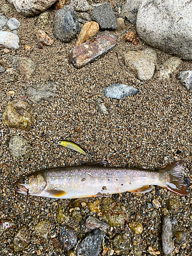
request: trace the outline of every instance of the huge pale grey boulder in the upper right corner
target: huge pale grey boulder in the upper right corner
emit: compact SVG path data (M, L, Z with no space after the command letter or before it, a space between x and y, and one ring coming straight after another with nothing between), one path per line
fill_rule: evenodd
M146 44L192 59L192 2L143 0L137 14L137 33Z

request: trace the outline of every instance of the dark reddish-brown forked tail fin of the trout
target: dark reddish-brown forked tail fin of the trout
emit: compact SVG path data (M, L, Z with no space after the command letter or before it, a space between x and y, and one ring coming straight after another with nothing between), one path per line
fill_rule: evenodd
M166 182L163 187L177 194L189 196L190 191L185 181L183 180L184 161L179 160L167 165L162 170L165 172Z

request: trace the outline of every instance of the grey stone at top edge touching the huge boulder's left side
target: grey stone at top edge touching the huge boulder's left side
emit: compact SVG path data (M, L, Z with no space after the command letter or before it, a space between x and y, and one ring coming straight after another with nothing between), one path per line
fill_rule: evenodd
M142 0L127 0L126 4L122 6L121 13L131 22L136 25L137 12Z

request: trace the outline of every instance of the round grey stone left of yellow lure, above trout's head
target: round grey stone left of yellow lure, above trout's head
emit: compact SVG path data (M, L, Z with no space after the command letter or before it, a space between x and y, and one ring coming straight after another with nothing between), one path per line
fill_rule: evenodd
M9 141L9 152L15 158L29 158L31 145L22 136L14 135Z

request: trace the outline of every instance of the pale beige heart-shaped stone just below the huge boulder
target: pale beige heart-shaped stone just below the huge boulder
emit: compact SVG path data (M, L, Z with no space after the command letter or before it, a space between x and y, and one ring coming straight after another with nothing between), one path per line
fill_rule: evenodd
M130 51L124 54L124 64L136 72L141 81L150 80L155 72L157 54L152 49L141 52Z

